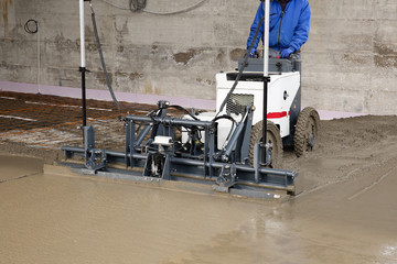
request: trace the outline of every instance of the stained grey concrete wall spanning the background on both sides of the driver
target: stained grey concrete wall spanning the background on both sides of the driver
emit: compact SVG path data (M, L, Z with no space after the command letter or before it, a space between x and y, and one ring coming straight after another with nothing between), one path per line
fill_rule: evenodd
M128 7L128 0L107 0ZM148 0L168 12L200 0ZM173 15L132 13L93 0L114 89L119 92L215 99L215 74L236 67L257 0L206 0ZM0 80L81 87L78 1L0 0ZM303 106L358 113L397 110L397 1L310 1L311 33L303 47ZM107 89L86 2L87 87ZM200 106L197 106L200 107Z

